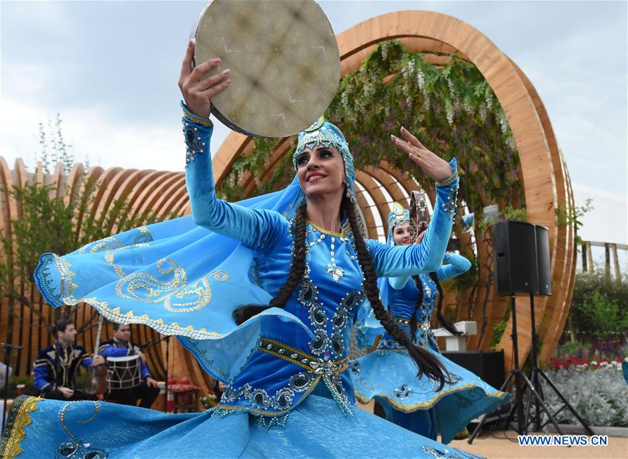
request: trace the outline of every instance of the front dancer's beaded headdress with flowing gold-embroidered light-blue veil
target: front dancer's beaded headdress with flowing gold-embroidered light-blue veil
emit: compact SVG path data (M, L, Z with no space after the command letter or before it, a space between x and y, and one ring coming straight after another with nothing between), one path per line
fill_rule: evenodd
M295 158L316 145L333 145L341 152L355 199L349 145L322 117L299 134ZM275 210L291 219L304 199L295 176L285 189L238 205ZM189 215L112 235L66 256L43 254L34 277L53 307L88 303L110 321L143 323L163 335L177 335L205 371L229 381L247 358L242 349L254 346L265 316L284 321L286 333L298 328L312 335L293 314L279 308L236 326L235 308L268 305L272 299L258 286L254 266L252 249L197 226Z

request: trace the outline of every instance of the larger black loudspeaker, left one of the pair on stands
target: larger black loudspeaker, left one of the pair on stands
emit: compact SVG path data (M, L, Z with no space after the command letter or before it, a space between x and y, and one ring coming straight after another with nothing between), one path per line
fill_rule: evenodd
M536 293L536 229L525 221L499 221L492 227L497 294Z

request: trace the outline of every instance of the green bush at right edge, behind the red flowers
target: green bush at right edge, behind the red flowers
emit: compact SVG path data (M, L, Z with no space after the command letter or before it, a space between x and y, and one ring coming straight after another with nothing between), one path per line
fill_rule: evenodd
M583 343L628 337L628 282L608 282L604 272L576 274L574 295L562 341L571 334Z

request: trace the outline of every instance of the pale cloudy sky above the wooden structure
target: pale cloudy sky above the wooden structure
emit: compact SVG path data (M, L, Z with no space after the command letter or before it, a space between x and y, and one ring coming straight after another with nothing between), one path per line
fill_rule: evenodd
M583 238L628 243L625 1L319 1L336 33L395 10L464 20L541 95L578 204ZM0 155L36 161L38 122L61 114L79 161L181 170L177 78L205 1L1 1ZM214 131L219 145L228 130ZM215 147L214 147L215 150Z

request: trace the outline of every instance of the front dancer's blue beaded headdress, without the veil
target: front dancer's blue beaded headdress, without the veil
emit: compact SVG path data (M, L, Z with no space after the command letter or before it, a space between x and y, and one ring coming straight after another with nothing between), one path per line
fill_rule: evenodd
M344 162L344 177L349 184L351 194L355 196L356 169L353 166L353 156L349 152L349 144L346 143L342 132L330 122L325 121L325 117L320 117L312 126L299 133L299 142L292 156L294 170L297 170L297 159L306 148L333 146L342 154Z

